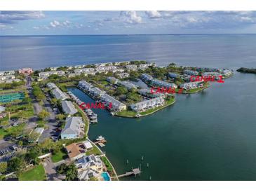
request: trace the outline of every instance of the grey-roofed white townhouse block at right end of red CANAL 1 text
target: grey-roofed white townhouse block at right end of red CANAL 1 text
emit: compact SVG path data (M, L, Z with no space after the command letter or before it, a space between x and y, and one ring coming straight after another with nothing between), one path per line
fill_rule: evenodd
M123 104L122 102L119 102L114 97L111 97L110 95L104 94L100 97L100 100L105 103L105 106L110 106L110 103L112 103L111 111L123 111L126 110L126 104Z

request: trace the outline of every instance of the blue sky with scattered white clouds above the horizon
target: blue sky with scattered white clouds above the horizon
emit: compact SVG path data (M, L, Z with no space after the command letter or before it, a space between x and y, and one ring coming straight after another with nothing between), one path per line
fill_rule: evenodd
M0 35L255 32L256 11L0 11Z

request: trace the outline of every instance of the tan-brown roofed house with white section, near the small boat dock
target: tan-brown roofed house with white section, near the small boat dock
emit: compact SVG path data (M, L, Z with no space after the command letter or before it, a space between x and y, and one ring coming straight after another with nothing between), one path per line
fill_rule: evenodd
M93 149L93 145L88 141L69 144L65 146L69 160L73 161L86 155L86 151Z

